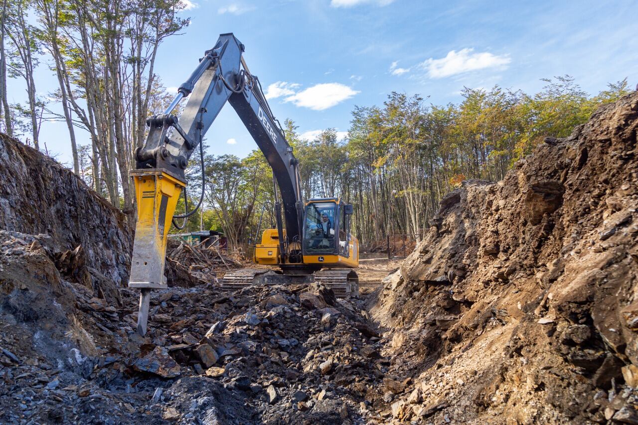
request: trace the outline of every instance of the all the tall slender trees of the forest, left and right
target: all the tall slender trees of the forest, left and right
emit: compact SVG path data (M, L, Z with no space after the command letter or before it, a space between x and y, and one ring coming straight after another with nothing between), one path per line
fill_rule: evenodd
M178 0L3 1L0 131L47 153L42 121L66 123L73 171L128 214L131 225L133 155L144 144L146 117L172 100L154 63L161 43L188 26L177 15L187 6ZM46 96L38 90L38 68L57 78L57 89ZM15 80L26 86L26 101L10 104L6 91ZM283 131L300 160L304 198L352 203L353 232L363 246L389 234L418 241L441 197L461 182L501 179L545 137L567 137L599 105L628 91L625 78L586 93L569 75L545 79L538 93L464 87L462 101L447 105L427 93L397 91L382 105L354 107L341 140L334 128L314 140L301 138L299 123L290 119ZM78 144L78 131L88 132L91 144ZM272 172L263 155L207 154L203 166L202 211L182 231L221 230L231 245L255 241L258 227L272 222ZM202 191L201 167L195 159L188 168L194 202ZM181 201L178 211L183 208Z

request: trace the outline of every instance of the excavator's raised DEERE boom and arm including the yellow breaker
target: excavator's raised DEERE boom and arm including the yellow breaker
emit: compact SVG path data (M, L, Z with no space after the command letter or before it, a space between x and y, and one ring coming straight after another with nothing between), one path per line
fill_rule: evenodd
M136 168L130 175L138 216L129 287L142 290L137 323L137 331L142 336L146 333L151 289L167 287L164 276L167 235L179 195L186 188L184 170L226 101L235 109L272 167L273 181L277 183L275 211L281 255L288 255L286 241L300 239L304 202L300 193L299 161L272 115L258 78L249 72L243 52L244 45L232 33L221 34L179 87L165 113L147 119L147 140L144 147L135 152ZM187 97L182 114L179 117L172 114ZM282 207L285 236L279 213Z

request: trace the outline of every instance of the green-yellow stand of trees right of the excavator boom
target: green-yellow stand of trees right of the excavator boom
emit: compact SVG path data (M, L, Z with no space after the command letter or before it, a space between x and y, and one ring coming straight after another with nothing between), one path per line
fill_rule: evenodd
M627 79L597 96L566 75L536 94L464 88L459 105L427 105L419 95L390 93L382 107L355 107L345 142L332 129L286 137L300 160L304 197L340 196L355 204L364 243L386 234L422 234L438 201L465 179L503 178L545 137L567 137L603 103L629 93Z

